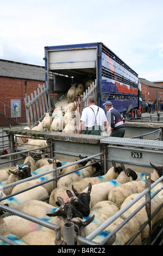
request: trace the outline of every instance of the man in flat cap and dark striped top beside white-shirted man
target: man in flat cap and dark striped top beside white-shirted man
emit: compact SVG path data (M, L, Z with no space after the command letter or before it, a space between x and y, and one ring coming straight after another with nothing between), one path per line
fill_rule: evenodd
M109 127L106 130L106 133L110 133L110 137L124 137L125 129L124 129L124 122L125 119L121 115L117 109L112 107L112 103L110 101L106 101L103 106L105 106L105 109L107 111L106 118L109 123Z

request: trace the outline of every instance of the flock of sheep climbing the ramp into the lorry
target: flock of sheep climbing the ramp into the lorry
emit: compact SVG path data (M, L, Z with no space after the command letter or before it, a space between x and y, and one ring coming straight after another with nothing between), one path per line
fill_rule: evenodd
M79 125L80 114L78 111L77 103L74 101L74 96L83 95L84 88L88 88L92 84L93 80L88 80L83 86L82 83L71 84L70 89L67 92L67 105L65 107L55 108L52 117L49 113L45 114L45 117L39 122L39 125L34 126L31 130L36 131L61 131L74 133ZM74 118L76 117L76 119ZM29 127L24 127L29 129ZM27 139L25 136L17 137L17 146L20 147L21 143L28 142L28 149L36 148L36 146L46 146L46 141ZM39 150L36 150L39 152Z

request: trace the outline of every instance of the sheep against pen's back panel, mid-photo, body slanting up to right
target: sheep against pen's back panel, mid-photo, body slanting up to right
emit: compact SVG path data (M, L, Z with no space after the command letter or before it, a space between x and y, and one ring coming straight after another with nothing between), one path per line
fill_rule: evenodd
M101 165L99 163L95 163L96 161L90 160L89 162L87 162L86 166L84 169L79 170L77 172L68 174L67 176L61 177L58 181L57 186L58 187L62 187L62 186L68 186L70 185L72 182L74 181L78 181L80 179L84 179L86 177L90 177L93 175L93 173L95 173L97 170L101 170ZM92 166L88 166L91 163L95 163L92 164Z

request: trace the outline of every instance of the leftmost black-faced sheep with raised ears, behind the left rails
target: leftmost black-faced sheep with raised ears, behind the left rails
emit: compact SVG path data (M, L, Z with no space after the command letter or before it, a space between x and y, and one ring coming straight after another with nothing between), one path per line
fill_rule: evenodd
M9 172L11 174L10 174L8 180L1 181L0 182L1 186L9 185L18 180L26 179L26 178L32 176L30 173L30 163L29 162L28 162L28 167L27 166L19 167L19 168L16 168L15 170L9 170ZM14 186L5 188L3 190L3 192L8 196L9 194L11 194L13 188L14 188Z

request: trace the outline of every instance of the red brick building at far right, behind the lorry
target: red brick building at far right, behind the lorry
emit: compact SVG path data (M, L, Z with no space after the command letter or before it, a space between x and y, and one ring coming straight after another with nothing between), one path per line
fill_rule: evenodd
M143 78L139 78L139 81L141 83L142 99L152 102L163 100L163 87L161 85Z

